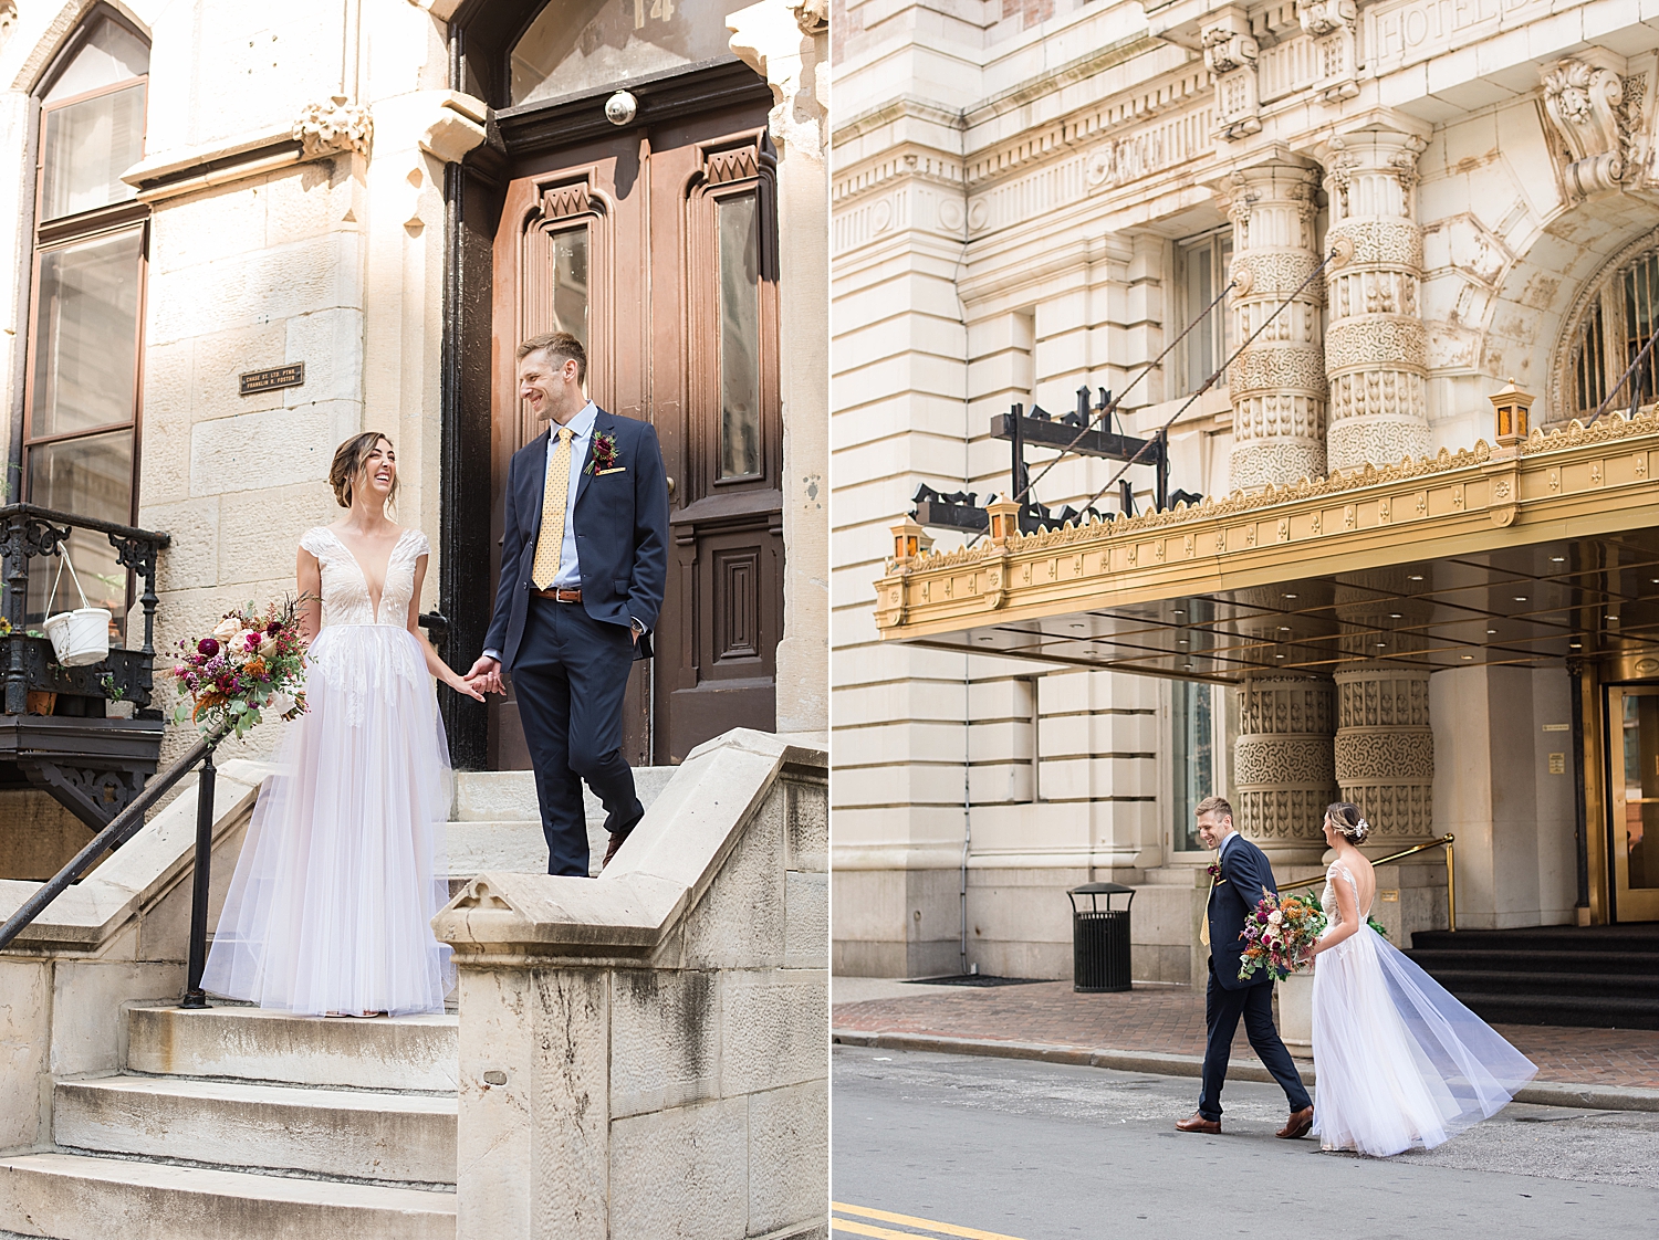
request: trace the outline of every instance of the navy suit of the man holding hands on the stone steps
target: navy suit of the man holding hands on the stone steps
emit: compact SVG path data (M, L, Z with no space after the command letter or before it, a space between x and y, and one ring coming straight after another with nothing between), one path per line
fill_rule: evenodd
M650 630L669 574L669 487L650 423L597 411L587 459L572 461L572 529L581 603L533 593L549 433L513 454L501 535L501 584L484 650L513 676L524 741L536 769L547 872L586 875L582 781L606 807L606 827L625 836L644 816L622 758L622 695L635 658L650 656ZM615 463L592 467L592 444L615 443ZM577 472L579 471L579 472ZM634 642L634 622L644 628Z

